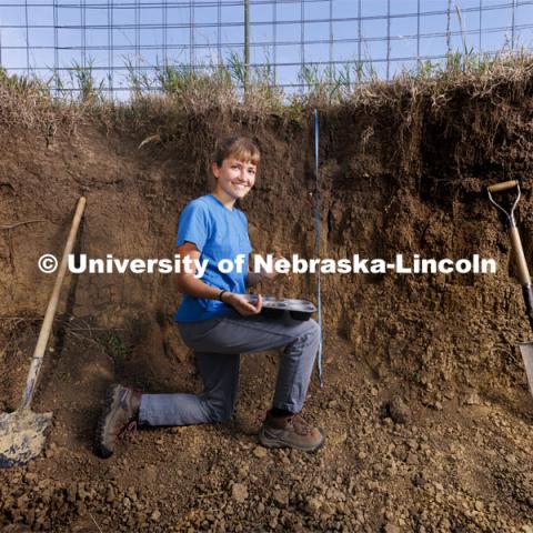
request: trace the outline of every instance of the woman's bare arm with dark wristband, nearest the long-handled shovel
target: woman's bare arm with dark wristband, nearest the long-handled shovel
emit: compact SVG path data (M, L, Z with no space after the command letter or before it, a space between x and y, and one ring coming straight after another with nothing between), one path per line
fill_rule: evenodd
M192 242L184 242L181 247L175 249L175 253L181 259L189 257L192 261L200 260L200 251ZM181 272L178 274L178 289L184 294L189 294L193 298L201 298L208 300L219 300L222 292L217 286L211 286L204 283L199 278L194 276L194 268L191 268L190 272L185 271L184 263L182 263ZM225 291L222 294L222 302L231 305L238 313L242 315L258 314L261 311L263 301L261 296L258 299L255 305L247 302L230 291Z

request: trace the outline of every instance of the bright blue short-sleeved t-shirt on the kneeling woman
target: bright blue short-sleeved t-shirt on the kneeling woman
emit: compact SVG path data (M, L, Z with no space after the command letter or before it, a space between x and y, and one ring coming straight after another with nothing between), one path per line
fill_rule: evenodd
M248 237L247 215L237 208L225 208L212 194L200 197L183 209L178 224L177 245L192 242L200 250L200 262L208 260L205 273L201 280L208 285L237 293L245 292L248 257L252 251ZM241 272L234 266L229 273L222 273L218 265L222 259L234 261L244 254ZM175 322L195 322L214 316L229 316L234 311L218 300L183 296L174 314Z

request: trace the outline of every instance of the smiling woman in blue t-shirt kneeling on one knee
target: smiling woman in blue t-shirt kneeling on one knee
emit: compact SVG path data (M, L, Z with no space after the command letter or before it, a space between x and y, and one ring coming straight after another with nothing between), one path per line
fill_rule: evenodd
M259 315L255 304L241 296L248 286L274 273L248 272L252 251L245 214L235 208L255 183L260 153L248 138L223 139L214 155L217 180L211 194L190 202L178 228L177 253L207 262L201 279L193 272L178 274L184 293L174 320L184 343L194 352L204 392L195 394L142 394L123 385L108 390L100 416L95 452L112 455L118 436L132 423L140 425L190 425L223 422L231 418L237 400L240 354L284 346L272 409L262 423L259 442L266 447L314 451L324 442L322 429L300 415L303 408L320 331L315 321ZM243 269L223 273L219 261L244 254Z

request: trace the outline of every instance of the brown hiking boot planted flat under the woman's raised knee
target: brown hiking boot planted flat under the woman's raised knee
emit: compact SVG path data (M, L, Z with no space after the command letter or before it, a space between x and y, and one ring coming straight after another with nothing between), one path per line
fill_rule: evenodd
M259 442L265 447L295 447L314 452L324 440L324 430L312 426L300 414L272 416L269 411L259 431Z

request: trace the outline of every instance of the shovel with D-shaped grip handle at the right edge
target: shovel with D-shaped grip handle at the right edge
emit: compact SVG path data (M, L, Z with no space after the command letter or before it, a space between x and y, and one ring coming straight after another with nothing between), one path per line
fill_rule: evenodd
M511 211L506 211L502 205L496 203L492 198L493 192L509 191L510 189L516 189L516 198L511 208ZM487 187L489 199L491 202L500 209L507 218L509 223L509 238L511 240L511 249L514 252L514 260L516 262L516 271L520 284L522 285L522 294L525 302L525 313L530 321L530 326L533 330L533 290L531 286L530 272L527 270L527 263L525 262L524 250L522 249L522 241L520 240L519 229L516 228L516 220L514 219L514 209L520 200L520 184L516 180L504 181L496 183L495 185ZM527 375L527 383L530 385L530 392L533 394L533 341L519 343L520 353L524 361L525 373Z

